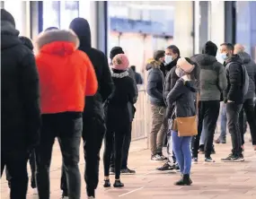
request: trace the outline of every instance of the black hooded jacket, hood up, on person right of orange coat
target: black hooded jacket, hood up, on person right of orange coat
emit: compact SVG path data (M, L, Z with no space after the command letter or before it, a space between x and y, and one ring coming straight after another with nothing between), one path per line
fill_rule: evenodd
M97 76L99 89L93 97L86 97L84 116L103 117L103 102L109 98L114 89L107 56L102 51L92 48L89 23L83 18L75 18L69 28L75 31L80 40L79 49L89 56Z

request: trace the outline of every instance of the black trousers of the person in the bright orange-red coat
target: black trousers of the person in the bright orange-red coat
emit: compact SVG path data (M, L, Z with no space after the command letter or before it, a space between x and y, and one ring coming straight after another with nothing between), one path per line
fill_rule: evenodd
M81 176L78 168L83 119L82 113L42 115L40 145L36 148L37 186L40 199L49 199L49 168L52 147L57 137L66 174L68 197L80 199Z

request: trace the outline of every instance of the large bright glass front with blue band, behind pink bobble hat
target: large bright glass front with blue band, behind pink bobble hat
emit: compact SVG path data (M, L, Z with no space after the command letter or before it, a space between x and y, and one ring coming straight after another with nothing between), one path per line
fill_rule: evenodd
M131 65L144 73L146 60L155 50L172 44L175 2L108 2L108 54L123 48Z

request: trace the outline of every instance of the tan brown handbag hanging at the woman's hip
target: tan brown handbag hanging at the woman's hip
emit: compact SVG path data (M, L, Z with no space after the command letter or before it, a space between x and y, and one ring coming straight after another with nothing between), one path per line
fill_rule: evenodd
M194 136L198 134L197 116L176 117L175 121L179 137Z

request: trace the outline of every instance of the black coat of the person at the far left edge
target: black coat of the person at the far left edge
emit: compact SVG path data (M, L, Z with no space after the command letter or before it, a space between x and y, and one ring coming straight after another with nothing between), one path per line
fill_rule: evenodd
M1 149L30 149L39 142L39 75L19 31L1 20Z

